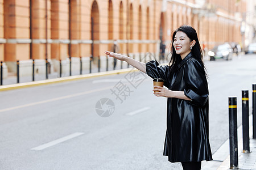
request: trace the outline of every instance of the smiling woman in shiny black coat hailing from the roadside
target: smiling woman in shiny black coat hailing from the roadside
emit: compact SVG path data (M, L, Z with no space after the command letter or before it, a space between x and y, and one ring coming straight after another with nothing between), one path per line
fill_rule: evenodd
M208 130L208 83L196 30L183 25L172 35L169 66L155 60L142 63L121 54L105 52L126 61L151 78L163 78L154 95L168 97L164 155L181 162L183 169L200 169L202 160L212 160ZM159 92L156 92L159 91Z

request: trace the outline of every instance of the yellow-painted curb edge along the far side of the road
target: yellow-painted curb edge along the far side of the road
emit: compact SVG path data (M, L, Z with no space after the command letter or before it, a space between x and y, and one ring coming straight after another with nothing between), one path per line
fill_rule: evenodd
M123 74L123 73L129 73L132 70L138 71L138 69L135 69L133 67L133 68L122 69L122 70L112 70L112 71L104 71L100 73L90 73L90 74L84 74L84 75L67 76L67 77L56 78L56 79L39 80L36 82L10 84L10 85L0 86L0 91L15 90L18 88L27 88L27 87L34 87L34 86L42 86L42 85L53 84L53 83L63 83L63 82L69 82L73 80L95 78L95 77L104 76L104 75Z

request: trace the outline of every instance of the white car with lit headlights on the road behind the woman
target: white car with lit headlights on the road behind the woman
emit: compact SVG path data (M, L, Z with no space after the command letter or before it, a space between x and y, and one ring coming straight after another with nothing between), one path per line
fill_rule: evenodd
M209 50L208 55L210 56L210 60L215 60L216 58L229 60L232 59L233 49L229 44L217 45Z

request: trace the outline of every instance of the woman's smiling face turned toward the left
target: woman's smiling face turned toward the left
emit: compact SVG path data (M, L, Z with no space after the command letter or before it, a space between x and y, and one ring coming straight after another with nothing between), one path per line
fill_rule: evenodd
M174 45L176 54L180 54L180 57L183 59L191 52L190 47L195 44L195 40L191 41L189 37L181 31L176 32L174 37Z

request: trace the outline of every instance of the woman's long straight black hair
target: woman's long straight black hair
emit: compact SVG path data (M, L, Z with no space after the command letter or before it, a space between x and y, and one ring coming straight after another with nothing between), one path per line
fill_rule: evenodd
M177 28L174 31L174 33L172 33L171 59L170 59L170 63L169 63L169 65L171 66L170 72L173 73L177 69L177 65L179 64L179 62L182 60L180 57L180 54L176 54L174 44L173 44L175 35L178 31L184 32L188 36L190 41L193 41L193 40L196 41L195 45L193 45L193 47L192 47L191 53L192 53L192 56L194 58L196 58L197 61L199 61L201 63L201 65L204 67L204 70L205 70L205 66L204 66L204 62L203 62L203 52L202 52L202 49L201 49L201 46L199 43L199 39L197 37L196 29L194 29L193 27L191 27L189 25L182 25L181 27Z

